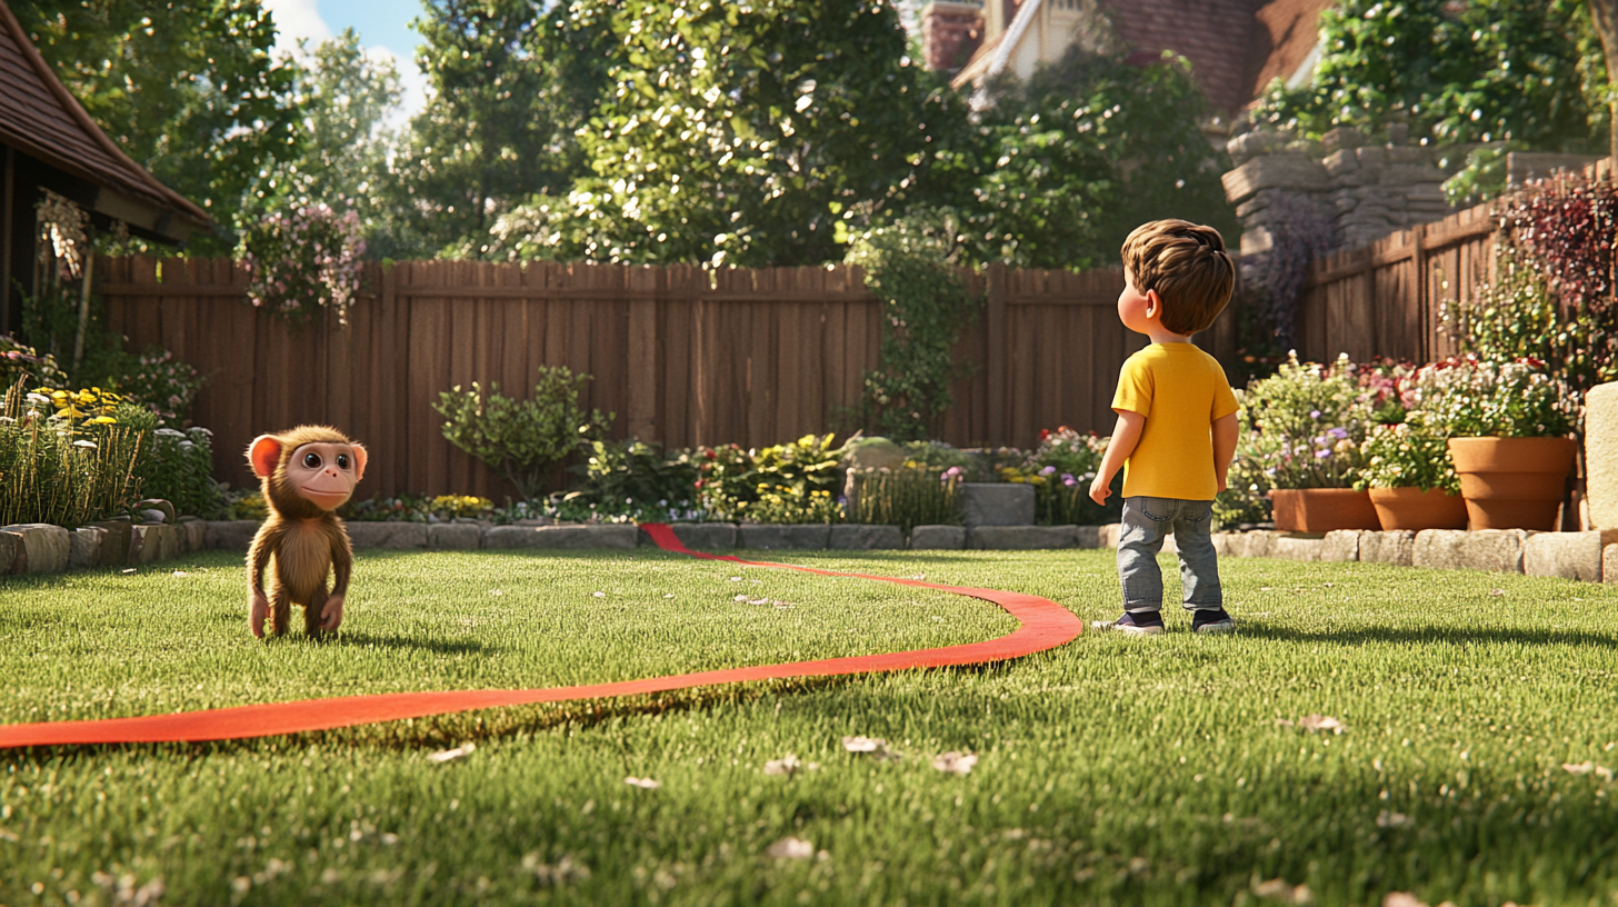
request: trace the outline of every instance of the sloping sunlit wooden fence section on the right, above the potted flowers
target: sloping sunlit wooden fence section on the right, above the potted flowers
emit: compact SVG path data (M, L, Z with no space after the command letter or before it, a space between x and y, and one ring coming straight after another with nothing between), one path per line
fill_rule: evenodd
M1612 178L1612 159L1584 170ZM1298 355L1327 361L1391 356L1417 363L1459 351L1443 311L1492 277L1493 204L1317 259L1298 304Z

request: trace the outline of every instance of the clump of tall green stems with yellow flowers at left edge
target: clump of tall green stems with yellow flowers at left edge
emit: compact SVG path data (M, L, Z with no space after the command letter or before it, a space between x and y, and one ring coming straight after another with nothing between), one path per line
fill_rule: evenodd
M115 411L112 394L70 397L13 382L0 403L0 525L71 528L128 509L142 437L118 424Z

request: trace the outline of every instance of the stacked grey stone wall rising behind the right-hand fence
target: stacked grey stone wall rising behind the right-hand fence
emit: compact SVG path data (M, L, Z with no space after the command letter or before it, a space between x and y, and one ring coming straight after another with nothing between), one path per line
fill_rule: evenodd
M1443 201L1443 181L1459 170L1464 154L1406 144L1401 130L1370 143L1359 130L1336 128L1322 141L1252 131L1230 139L1235 170L1225 173L1225 196L1241 219L1241 253L1270 249L1270 204L1281 194L1319 202L1333 222L1335 248L1356 248L1416 224L1442 220L1456 209ZM1440 162L1448 157L1448 168Z

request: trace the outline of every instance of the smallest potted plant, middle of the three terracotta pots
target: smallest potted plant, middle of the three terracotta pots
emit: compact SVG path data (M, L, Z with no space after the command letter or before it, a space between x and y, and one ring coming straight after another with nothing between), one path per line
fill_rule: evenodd
M1413 410L1403 423L1374 426L1361 454L1366 465L1354 486L1370 492L1383 530L1466 528L1461 479L1430 413Z

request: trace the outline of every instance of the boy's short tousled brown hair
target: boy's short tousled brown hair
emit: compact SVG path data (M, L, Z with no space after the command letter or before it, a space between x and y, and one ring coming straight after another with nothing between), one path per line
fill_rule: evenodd
M1163 329L1175 334L1207 330L1236 288L1236 264L1225 251L1225 238L1189 220L1136 227L1123 241L1123 264L1136 290L1157 290Z

